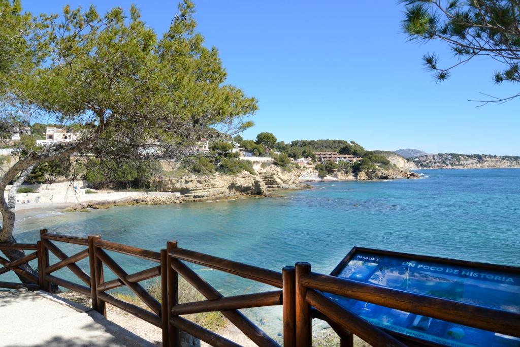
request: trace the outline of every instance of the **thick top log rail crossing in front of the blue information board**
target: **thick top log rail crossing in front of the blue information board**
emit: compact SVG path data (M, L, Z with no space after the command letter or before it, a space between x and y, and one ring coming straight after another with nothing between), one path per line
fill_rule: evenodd
M316 273L302 276L301 282L307 288L520 337L520 314Z

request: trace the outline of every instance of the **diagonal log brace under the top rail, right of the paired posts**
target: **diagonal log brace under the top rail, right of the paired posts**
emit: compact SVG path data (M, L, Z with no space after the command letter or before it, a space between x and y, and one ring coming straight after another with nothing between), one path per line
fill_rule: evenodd
M334 323L343 327L347 331L352 331L362 340L368 342L373 347L406 347L404 343L396 340L375 325L357 315L348 312L334 301L326 298L323 294L313 289L308 289L306 298L309 304L316 307L318 311L333 320Z

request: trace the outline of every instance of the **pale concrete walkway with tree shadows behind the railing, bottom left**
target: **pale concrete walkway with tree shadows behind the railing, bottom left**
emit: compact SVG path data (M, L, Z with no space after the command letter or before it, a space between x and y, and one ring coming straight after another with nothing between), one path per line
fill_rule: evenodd
M83 347L154 344L86 306L43 291L0 291L0 346Z

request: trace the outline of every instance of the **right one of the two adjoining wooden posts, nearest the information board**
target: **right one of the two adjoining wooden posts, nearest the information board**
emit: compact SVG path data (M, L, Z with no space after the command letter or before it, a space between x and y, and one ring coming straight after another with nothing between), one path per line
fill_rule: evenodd
M296 345L311 347L312 331L310 308L307 303L307 288L302 285L301 277L310 272L310 264L299 262L295 265L295 306L296 306Z

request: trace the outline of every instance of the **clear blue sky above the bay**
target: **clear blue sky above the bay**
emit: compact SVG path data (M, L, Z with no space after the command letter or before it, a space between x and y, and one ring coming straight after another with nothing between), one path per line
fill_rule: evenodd
M104 12L134 3L162 33L175 0L22 0L32 12L64 5ZM451 54L439 44L407 42L396 1L195 0L199 31L216 46L228 82L259 100L256 125L279 140L338 138L368 149L520 155L520 99L477 107L480 92L503 97L519 86L492 83L496 63L477 60L435 84L421 57ZM442 54L444 53L444 54Z

